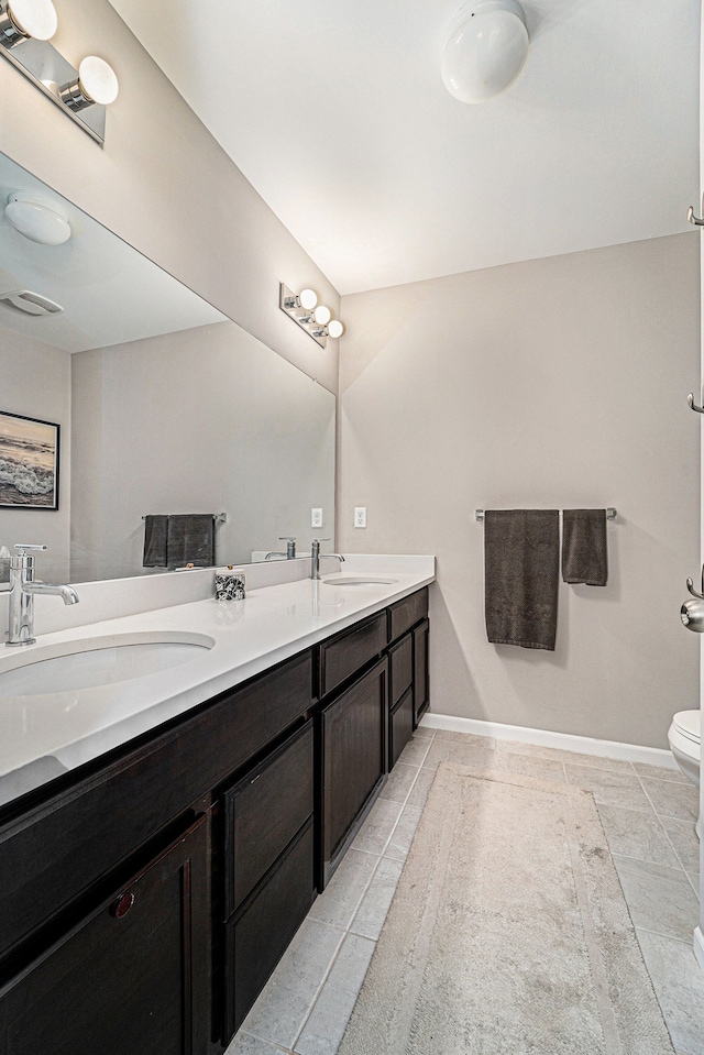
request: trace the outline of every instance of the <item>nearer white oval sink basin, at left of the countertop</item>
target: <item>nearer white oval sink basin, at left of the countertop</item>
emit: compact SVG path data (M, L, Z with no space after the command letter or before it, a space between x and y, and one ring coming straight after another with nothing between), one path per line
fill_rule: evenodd
M205 634L174 630L29 645L19 655L0 657L0 697L42 696L131 681L187 663L213 645Z

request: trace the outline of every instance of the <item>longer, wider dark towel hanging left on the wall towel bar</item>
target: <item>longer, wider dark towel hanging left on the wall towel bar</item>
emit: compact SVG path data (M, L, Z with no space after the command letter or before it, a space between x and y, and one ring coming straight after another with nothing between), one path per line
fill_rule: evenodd
M554 650L560 579L557 509L484 514L484 612L494 645Z

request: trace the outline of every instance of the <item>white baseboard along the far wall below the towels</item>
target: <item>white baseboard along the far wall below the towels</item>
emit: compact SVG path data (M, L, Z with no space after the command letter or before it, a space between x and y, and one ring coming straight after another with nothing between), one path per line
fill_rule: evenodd
M647 762L663 769L676 769L672 754L658 747L638 744L620 744L618 740L598 740L591 736L573 736L553 733L550 729L531 729L522 725L502 725L499 722L483 722L480 718L459 718L451 714L426 713L420 722L429 729L447 729L452 733L472 733L474 736L492 736L497 740L518 740L538 747L557 747L561 751L578 751L582 755L600 755L602 758L620 758L628 762Z

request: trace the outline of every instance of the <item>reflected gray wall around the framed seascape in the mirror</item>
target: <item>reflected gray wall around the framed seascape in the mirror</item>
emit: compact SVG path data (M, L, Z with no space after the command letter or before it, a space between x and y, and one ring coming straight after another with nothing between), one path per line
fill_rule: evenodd
M44 542L36 576L68 579L70 521L70 355L41 341L2 330L0 334L0 410L61 426L58 512L0 509L0 546ZM0 637L0 640L2 638Z

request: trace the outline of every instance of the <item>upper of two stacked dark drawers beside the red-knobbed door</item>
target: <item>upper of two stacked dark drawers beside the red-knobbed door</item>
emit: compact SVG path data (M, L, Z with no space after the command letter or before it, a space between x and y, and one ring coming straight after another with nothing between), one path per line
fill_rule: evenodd
M226 919L310 817L312 719L224 794Z

